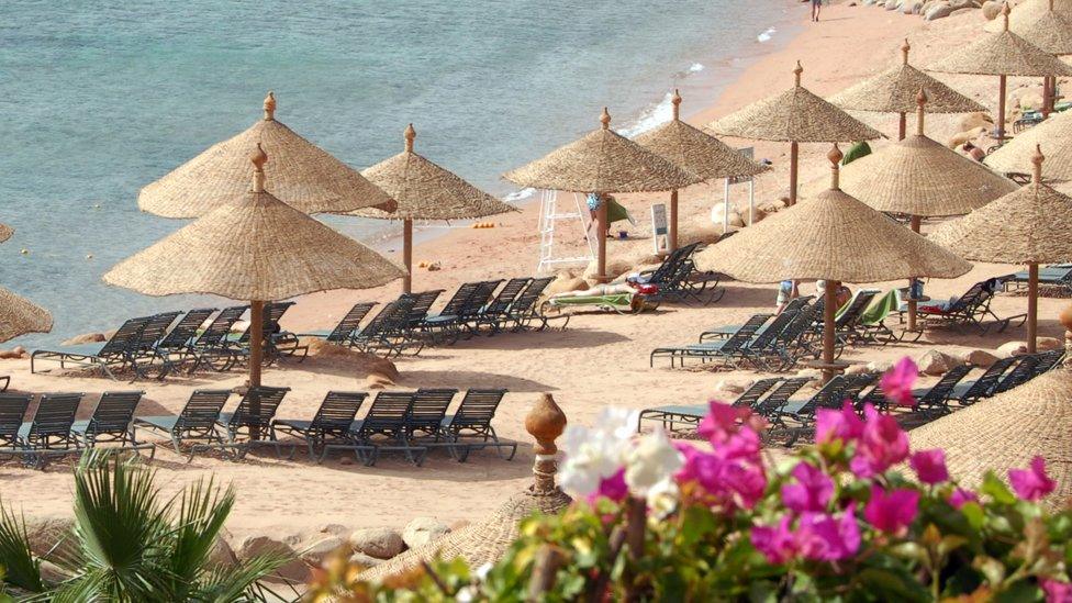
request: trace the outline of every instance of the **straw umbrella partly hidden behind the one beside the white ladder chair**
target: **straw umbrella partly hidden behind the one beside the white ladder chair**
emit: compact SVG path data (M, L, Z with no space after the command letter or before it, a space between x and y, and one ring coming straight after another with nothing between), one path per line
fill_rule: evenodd
M756 176L769 169L741 152L681 121L681 94L673 91L673 119L638 135L640 145L704 180ZM751 217L749 217L751 222ZM670 250L678 248L678 189L670 191Z

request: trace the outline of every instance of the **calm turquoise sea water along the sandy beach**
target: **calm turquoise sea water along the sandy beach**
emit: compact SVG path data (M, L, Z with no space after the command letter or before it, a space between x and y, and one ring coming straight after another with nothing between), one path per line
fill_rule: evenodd
M674 85L710 102L794 5L4 0L0 222L16 234L0 283L56 316L53 334L18 343L192 303L100 277L182 225L139 213L137 190L245 130L269 89L278 119L350 165L397 153L412 121L421 153L506 194L500 174L592 129L603 104L635 129L665 119ZM383 227L328 221L365 239Z

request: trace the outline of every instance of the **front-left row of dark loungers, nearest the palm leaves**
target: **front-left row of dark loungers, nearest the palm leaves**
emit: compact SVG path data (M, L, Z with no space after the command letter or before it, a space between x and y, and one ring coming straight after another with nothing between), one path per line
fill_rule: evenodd
M231 390L194 390L175 416L137 416L144 392L105 392L87 421L76 421L81 393L43 394L36 411L25 417L32 394L0 394L0 455L19 456L43 467L49 458L79 454L109 443L113 450L156 451L153 443L138 442L136 431L156 432L170 439L176 453L219 449L241 458L255 446L275 448L291 457L297 446L280 440L290 435L304 445L311 459L321 462L332 450L348 450L365 465L376 464L381 453L399 451L421 465L436 448L465 461L471 451L494 449L512 459L514 442L501 440L491 422L506 390L468 390L454 414L447 414L458 390L421 389L413 392L331 391L311 420L277 418L289 388L250 388L234 411L224 411ZM360 420L360 410L368 411Z

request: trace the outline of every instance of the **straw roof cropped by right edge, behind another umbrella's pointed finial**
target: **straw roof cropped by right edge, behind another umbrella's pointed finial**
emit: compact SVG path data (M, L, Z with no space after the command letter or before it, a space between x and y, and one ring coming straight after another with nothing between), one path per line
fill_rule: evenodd
M1042 178L1072 180L1072 112L1068 111L1020 132L984 160L996 171L1030 174L1037 145L1042 145L1049 157L1042 165Z

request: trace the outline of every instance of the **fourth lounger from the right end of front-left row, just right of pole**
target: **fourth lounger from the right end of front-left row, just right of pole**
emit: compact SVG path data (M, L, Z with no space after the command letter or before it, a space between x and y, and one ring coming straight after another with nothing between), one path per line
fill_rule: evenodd
M333 449L351 449L357 454L358 460L364 461L361 454L372 454L373 449L357 444L350 434L350 427L366 399L368 393L362 391L330 391L312 421L277 418L272 426L277 433L282 432L303 439L309 448L309 458L316 459L317 462L323 462L328 446Z

